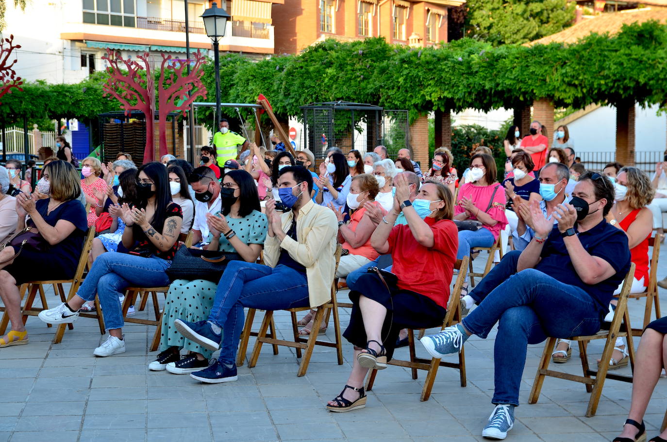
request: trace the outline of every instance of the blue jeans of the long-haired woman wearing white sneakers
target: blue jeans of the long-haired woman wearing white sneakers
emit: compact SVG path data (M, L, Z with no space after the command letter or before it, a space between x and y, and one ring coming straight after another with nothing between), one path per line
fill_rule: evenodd
M93 262L77 295L91 301L97 294L107 330L122 328L123 311L119 297L125 294L125 288L167 286L169 276L165 270L169 266L171 261L157 256L142 258L118 252L103 253Z

